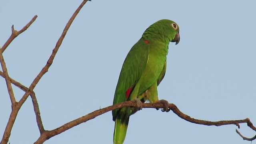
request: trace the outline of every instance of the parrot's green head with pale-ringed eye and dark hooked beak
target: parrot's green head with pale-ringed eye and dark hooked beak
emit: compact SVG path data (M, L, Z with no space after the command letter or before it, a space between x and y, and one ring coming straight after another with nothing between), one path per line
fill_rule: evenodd
M158 20L152 24L142 37L151 36L154 39L164 40L164 42L180 42L179 26L172 20Z

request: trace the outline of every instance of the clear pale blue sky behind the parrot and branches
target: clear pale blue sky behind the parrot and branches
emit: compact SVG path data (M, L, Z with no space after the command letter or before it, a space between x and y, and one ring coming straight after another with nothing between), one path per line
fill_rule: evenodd
M12 78L29 86L82 0L0 1L0 46L38 15L4 52ZM180 43L169 46L159 99L203 120L250 118L256 125L256 1L254 0L92 0L82 8L49 71L34 91L44 127L52 130L112 105L122 63L152 23L170 19L180 26ZM24 94L14 87L16 99ZM0 78L0 138L11 111ZM173 112L143 109L130 117L124 144L250 144L236 126L203 126ZM112 144L108 112L47 140L45 144ZM241 124L240 132L256 132ZM39 137L31 99L22 106L11 144Z

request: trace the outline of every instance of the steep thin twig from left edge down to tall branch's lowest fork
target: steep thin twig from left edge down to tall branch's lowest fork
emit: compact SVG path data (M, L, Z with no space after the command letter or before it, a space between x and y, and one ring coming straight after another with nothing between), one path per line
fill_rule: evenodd
M7 68L6 68L6 64L4 62L4 56L3 56L1 50L0 50L0 63L1 63L2 70L3 70L3 73L4 73L4 78L5 78L5 81L6 81L6 85L7 85L8 93L9 93L9 96L10 96L10 99L11 99L11 102L12 102L12 109L13 109L15 107L16 100L15 100L14 93L13 93L13 90L12 90L12 84L11 84L10 77L9 77L9 74L8 74L8 71L7 71Z

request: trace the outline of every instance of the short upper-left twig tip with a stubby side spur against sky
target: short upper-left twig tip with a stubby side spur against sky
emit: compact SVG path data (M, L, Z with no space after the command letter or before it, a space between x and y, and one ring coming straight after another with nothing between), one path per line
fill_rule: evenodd
M14 40L14 38L16 38L19 34L24 32L25 30L27 30L28 27L36 20L36 18L37 18L37 16L34 16L32 18L32 20L30 20L30 22L28 22L28 24L26 24L26 26L24 26L20 31L14 30L14 25L12 25L12 34L8 38L6 43L3 45L3 47L1 48L1 51L4 52L4 50L9 46L9 44L12 42L12 40Z

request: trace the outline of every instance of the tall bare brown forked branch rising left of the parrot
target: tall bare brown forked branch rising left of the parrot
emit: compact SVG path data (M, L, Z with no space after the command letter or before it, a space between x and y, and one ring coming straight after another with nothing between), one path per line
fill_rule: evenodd
M3 75L4 75L3 77L6 79L8 92L9 92L10 99L11 99L11 102L12 102L12 112L10 114L10 118L9 118L8 123L6 125L6 129L4 131L4 135L3 135L3 138L0 142L0 144L6 144L8 142L8 139L9 139L10 134L11 134L12 126L13 126L15 120L16 120L16 116L18 114L18 111L20 110L21 106L24 104L24 102L26 101L26 99L28 98L29 95L31 96L32 101L33 101L34 110L35 110L35 113L36 113L36 116L37 116L37 123L38 123L40 133L41 134L44 133L44 128L43 128L43 125L42 125L42 121L40 119L40 112L39 112L38 104L36 102L36 97L34 95L33 89L35 88L35 86L39 82L39 80L42 78L42 76L50 68L50 66L51 66L51 64L54 60L54 57L55 57L56 53L58 52L58 49L60 48L60 45L62 44L62 41L64 40L64 38L66 36L66 33L67 33L68 29L70 28L70 26L71 26L72 22L74 21L74 19L76 18L77 14L82 9L84 4L86 4L87 1L88 0L84 0L80 4L80 6L77 8L77 10L74 12L72 17L70 18L70 20L66 24L58 42L56 43L55 48L52 50L52 54L51 54L50 58L48 59L48 61L46 62L46 65L44 66L44 68L42 68L40 73L36 76L36 78L34 79L32 84L30 84L29 88L26 88L26 92L22 96L22 98L19 102L16 102L14 94L12 92L11 79L8 76L8 72L7 72L5 63L4 63L4 58L2 56L2 52L4 52L4 50L9 46L9 44L12 42L12 40L14 40L14 38L16 38L20 33L24 32L34 22L34 20L36 20L37 16L34 16L34 18L32 18L32 20L24 28L22 28L22 30L20 30L20 31L14 30L14 26L12 26L12 34L11 34L10 38L7 40L7 42L4 44L4 46L0 49L0 60L1 60L1 65L2 65L2 68L3 68Z

